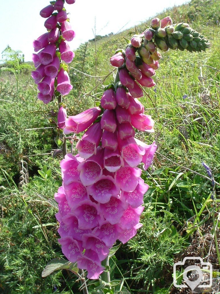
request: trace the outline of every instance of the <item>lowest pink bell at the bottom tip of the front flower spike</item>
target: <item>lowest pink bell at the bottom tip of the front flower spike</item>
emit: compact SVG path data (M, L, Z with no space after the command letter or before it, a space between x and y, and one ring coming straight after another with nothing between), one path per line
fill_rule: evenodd
M88 279L98 279L99 275L101 273L103 273L103 271L105 269L101 265L100 261L94 261L94 260L92 260L92 259L90 259L90 258L88 258L86 256L79 256L78 257L77 266L78 266L78 268L81 268L81 269L84 269L84 270L88 271L88 274L87 274Z

